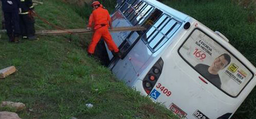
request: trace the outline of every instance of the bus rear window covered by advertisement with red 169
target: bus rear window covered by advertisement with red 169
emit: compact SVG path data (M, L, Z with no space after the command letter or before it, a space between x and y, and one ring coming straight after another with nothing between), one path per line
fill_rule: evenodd
M236 97L253 76L242 62L199 29L191 33L179 48L179 54L201 76L232 97Z

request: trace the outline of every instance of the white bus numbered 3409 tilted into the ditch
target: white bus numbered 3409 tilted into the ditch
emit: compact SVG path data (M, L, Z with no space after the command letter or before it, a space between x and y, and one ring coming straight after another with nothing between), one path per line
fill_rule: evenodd
M255 67L220 32L155 0L119 0L112 33L124 54L109 69L180 118L231 118L256 84Z

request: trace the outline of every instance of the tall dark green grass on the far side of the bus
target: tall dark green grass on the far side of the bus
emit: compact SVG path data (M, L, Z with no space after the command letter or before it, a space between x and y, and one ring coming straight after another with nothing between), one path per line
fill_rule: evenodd
M256 66L256 4L253 1L163 1L225 35L230 43ZM246 6L242 6L246 5ZM256 118L256 89L236 111L239 118Z

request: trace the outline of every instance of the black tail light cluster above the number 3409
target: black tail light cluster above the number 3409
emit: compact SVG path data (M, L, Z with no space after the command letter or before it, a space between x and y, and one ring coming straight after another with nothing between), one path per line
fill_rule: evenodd
M143 88L147 94L149 94L153 90L158 78L161 75L162 69L163 69L163 60L162 58L160 58L154 64L154 66L148 71L147 75L144 77Z

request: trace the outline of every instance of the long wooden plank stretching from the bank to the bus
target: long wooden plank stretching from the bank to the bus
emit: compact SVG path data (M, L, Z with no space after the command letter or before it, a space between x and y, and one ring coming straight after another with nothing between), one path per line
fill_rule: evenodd
M120 31L138 31L138 30L146 30L145 27L142 26L134 26L134 27L116 27L113 29L109 29L110 32L120 32ZM37 30L36 35L65 35L65 34L73 34L73 33L93 33L93 30L87 29L64 29L64 30Z

